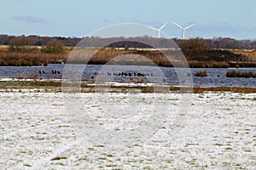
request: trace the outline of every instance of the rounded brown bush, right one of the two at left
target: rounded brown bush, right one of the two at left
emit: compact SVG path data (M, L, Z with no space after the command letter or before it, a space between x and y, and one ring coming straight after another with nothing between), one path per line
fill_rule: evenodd
M58 40L51 40L49 41L46 46L42 49L44 53L49 54L63 54L65 53L65 49L63 48L63 45Z

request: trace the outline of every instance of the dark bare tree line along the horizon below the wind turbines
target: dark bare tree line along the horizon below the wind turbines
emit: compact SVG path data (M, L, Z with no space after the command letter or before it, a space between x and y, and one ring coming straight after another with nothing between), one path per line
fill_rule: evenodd
M9 35L0 35L0 45L12 45L14 42L24 41L25 44L32 46L46 46L49 42L60 42L63 46L74 47L81 40L84 39L84 46L93 47L93 46L102 46L106 39L109 40L118 40L119 38L110 37L110 38L101 38L101 37L40 37L36 35L32 36L9 36ZM201 42L204 42L208 48L230 48L230 49L254 49L256 48L256 39L253 40L236 40L230 37L213 37L212 39L203 39L200 37L193 39L201 39ZM154 47L159 45L170 45L173 46L173 42L176 42L177 45L180 45L182 42L189 40L181 40L177 38L165 39L165 38L154 38L154 37L133 37L132 40L135 42L148 42Z

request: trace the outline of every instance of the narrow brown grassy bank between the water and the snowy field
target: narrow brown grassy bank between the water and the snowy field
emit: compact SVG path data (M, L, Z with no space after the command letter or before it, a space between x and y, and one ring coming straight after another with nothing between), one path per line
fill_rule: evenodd
M22 92L24 89L38 89L38 92L61 92L61 82L54 81L3 81L0 82L0 89L2 92L18 91ZM40 90L39 90L40 89ZM81 88L77 92L82 93L95 93L100 92L110 93L130 93L131 91L137 91L141 93L180 93L182 90L184 93L202 94L205 92L231 92L231 93L256 93L256 88L237 88L237 87L199 87L194 88L180 88L175 86L166 87L116 87L111 86L106 88L96 88L91 82L83 82ZM107 89L107 91L106 91ZM166 89L169 89L166 91ZM191 91L192 90L192 91ZM73 91L71 91L73 92Z

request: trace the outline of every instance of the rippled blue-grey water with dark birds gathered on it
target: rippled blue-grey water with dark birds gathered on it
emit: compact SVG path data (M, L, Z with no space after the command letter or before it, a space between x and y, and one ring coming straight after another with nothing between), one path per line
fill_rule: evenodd
M48 65L48 66L1 66L0 78L38 78L38 79L61 79L64 68L67 65ZM76 68L77 69L77 68ZM145 82L163 81L172 85L182 84L183 78L178 79L175 68L156 67L156 66L136 66L136 65L86 65L82 67L83 80L96 79L102 75L105 80L113 82L125 82L129 79L143 79ZM81 69L78 69L80 71ZM236 71L254 71L256 68L191 68L193 85L205 87L256 87L256 78L230 78L225 77L226 72ZM76 70L74 70L76 71ZM207 77L195 77L196 71L207 71ZM64 71L65 72L65 71ZM126 77L121 76L127 73ZM184 71L185 72L185 71ZM67 70L66 70L67 73ZM130 73L130 75L129 75ZM141 73L144 77L138 77ZM162 75L161 75L162 74ZM120 75L120 76L119 76ZM187 75L188 77L189 75ZM70 76L68 76L70 77ZM72 77L72 76L71 76ZM186 77L185 77L186 79Z

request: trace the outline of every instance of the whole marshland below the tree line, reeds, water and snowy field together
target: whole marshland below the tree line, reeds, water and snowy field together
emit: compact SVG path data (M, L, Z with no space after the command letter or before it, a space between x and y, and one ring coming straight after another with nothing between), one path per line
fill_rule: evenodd
M27 37L16 38L17 42L21 39L25 43ZM170 62L159 52L145 48L108 47L82 67L76 84L65 82L63 77L68 76L65 69L68 62L78 66L84 58L68 60L69 54L80 50L90 53L95 49L68 47L63 40L55 38L40 42L39 46L39 42L28 41L22 46L12 42L1 47L1 167L256 167L253 50L209 48L201 39L181 42L183 48L177 50L183 50L188 59L191 68L185 76L193 82L186 87L172 65L183 69L182 62ZM203 48L198 49L199 53L185 48L189 44ZM118 55L137 58L122 59L120 63L113 57ZM113 62L109 64L111 59ZM161 118L150 122L157 114ZM103 129L96 132L99 136L94 135L94 129L87 127L84 120L90 120L89 125L96 129ZM150 123L154 123L152 128L156 130L150 131L148 126L147 138L141 136L142 125ZM111 143L113 139L109 136L102 139L106 131L119 134L109 136L119 139L114 140L116 144L123 141L123 145Z

